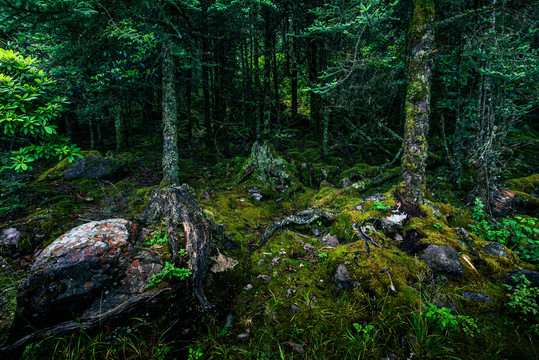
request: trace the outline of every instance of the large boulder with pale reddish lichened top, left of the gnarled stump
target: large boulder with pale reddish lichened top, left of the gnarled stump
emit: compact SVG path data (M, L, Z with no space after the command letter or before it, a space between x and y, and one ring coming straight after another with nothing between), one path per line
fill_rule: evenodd
M95 317L144 292L162 268L140 249L139 229L124 219L93 221L60 236L20 285L11 337L73 319Z

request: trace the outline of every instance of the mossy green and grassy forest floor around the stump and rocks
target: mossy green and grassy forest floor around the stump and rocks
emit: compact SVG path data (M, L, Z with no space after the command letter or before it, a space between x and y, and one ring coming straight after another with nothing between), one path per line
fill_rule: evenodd
M156 145L140 139L136 150L112 155L129 171L108 180L65 180L60 172L69 166L66 162L3 180L0 229L15 227L21 237L15 252L0 257L2 333L16 308L17 285L40 250L90 220L138 219L161 180ZM512 293L500 283L511 271L537 271L539 175L534 175L532 150L516 157L516 170L508 174L517 179L505 186L525 200L520 213L505 215L506 222L493 222L477 203L474 207L465 186L454 190L445 180L449 169L438 166L435 156L428 201L420 214L391 221L406 215L393 196L400 169L378 159L376 149L323 159L314 142L281 143L275 154L286 160L299 183L276 188L256 180L234 181L247 157L217 161L204 155L209 152L186 152L180 159L181 182L193 189L204 214L240 245L212 244L213 254L237 261L206 279L216 313L191 316L176 304L160 316L134 318L114 333L44 336L25 356L539 358L539 295L531 286ZM307 209L337 215L283 227L257 248L272 223ZM151 236L163 231L155 228ZM507 246L507 257L483 251L496 241ZM463 273L430 269L422 260L429 245L454 248Z

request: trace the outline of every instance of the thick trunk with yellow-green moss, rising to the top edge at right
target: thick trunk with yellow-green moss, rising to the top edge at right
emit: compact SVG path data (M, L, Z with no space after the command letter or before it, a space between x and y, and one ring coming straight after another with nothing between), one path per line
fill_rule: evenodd
M414 0L409 27L410 59L402 156L402 200L423 202L430 113L434 0Z

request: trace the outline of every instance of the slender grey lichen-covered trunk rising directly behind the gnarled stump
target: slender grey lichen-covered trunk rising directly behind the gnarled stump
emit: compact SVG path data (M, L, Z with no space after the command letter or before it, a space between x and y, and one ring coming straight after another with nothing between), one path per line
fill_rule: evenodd
M176 66L170 53L170 44L162 46L163 71L163 180L161 185L178 184L178 129L175 76Z

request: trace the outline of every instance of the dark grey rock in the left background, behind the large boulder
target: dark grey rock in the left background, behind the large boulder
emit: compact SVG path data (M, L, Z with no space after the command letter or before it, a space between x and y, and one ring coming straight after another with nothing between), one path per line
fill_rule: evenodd
M126 161L101 155L89 155L79 159L63 172L66 180L120 178L128 173Z

